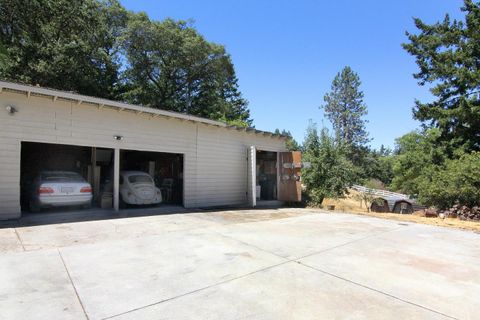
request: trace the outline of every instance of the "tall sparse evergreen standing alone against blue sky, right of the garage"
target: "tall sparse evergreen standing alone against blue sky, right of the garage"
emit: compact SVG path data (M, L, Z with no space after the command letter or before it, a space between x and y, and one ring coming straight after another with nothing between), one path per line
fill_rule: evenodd
M332 123L336 138L350 147L362 147L368 141L365 129L367 106L360 90L360 77L350 67L335 76L331 91L324 96L327 118Z

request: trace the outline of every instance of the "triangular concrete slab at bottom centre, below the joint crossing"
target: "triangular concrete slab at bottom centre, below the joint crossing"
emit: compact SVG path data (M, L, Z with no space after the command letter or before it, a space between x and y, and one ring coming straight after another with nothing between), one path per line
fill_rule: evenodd
M294 262L138 309L143 319L448 319Z

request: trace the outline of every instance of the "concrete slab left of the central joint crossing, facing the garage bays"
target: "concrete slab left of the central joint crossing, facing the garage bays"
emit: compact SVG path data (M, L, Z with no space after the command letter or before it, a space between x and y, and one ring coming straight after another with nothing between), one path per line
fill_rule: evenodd
M61 252L91 319L284 262L207 230L72 246Z

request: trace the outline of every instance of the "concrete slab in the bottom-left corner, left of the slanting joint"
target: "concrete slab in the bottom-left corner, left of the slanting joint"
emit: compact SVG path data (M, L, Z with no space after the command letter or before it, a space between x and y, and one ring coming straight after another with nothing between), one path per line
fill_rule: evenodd
M56 250L0 256L0 319L85 319Z

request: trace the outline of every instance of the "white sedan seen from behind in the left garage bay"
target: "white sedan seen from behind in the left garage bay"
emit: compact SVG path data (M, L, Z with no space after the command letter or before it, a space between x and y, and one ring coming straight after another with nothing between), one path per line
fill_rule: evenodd
M83 206L92 204L92 186L76 172L43 171L33 183L30 211L46 207Z

